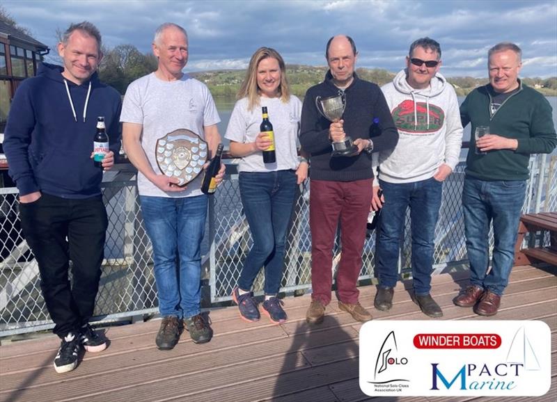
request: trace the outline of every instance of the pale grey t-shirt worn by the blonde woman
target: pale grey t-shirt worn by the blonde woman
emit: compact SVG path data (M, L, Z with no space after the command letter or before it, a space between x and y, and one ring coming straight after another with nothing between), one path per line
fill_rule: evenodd
M260 104L248 111L248 99L236 102L225 138L237 143L253 143L260 133L261 108L267 106L269 121L273 124L276 163L263 163L262 152L254 152L242 158L240 172L273 172L298 168L298 133L301 116L300 99L290 95L288 102L280 98L260 97Z

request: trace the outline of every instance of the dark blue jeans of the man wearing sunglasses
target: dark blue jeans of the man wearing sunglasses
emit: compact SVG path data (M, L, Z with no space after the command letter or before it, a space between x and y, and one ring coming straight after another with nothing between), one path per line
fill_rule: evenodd
M398 280L398 256L404 241L406 210L410 207L414 293L418 296L429 294L443 183L432 177L421 182L397 184L379 180L379 186L385 197L375 249L379 286L395 287Z

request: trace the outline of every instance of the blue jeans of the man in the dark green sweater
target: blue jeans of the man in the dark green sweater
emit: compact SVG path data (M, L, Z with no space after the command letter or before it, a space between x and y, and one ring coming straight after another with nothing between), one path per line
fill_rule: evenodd
M526 181L486 182L466 177L462 190L464 233L472 284L501 296L509 282ZM494 248L489 266L489 223L493 223Z

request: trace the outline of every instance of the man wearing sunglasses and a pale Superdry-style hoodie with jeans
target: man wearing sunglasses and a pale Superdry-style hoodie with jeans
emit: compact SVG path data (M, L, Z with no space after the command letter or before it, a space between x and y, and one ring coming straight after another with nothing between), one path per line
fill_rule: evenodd
M439 43L418 39L410 45L406 68L381 88L399 139L392 152L379 152L374 163L379 165L379 183L371 204L375 211L383 209L375 253L379 278L375 308L387 311L393 305L400 241L410 208L413 299L433 318L443 316L430 294L435 225L443 181L457 166L462 145L457 95L439 73L440 66Z

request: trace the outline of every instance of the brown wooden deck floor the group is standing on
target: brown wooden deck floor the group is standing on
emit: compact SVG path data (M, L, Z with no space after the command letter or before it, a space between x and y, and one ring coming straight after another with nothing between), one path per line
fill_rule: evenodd
M515 401L557 401L557 268L518 266L491 319L539 319L551 328L552 386L539 398ZM433 295L443 319L489 319L452 299L466 286L466 273L437 275ZM403 284L395 291L389 313L372 308L375 287L361 287L361 303L374 319L425 320ZM358 331L361 324L327 307L322 325L305 321L309 296L285 299L289 321L271 325L238 318L236 307L210 312L214 338L193 344L187 332L172 351L158 351L160 321L107 328L111 339L102 353L87 353L77 369L56 374L52 360L57 337L14 341L0 346L0 401L367 401L358 385ZM403 401L466 401L455 398L402 398ZM395 401L396 398L376 399ZM481 401L501 399L476 398Z

